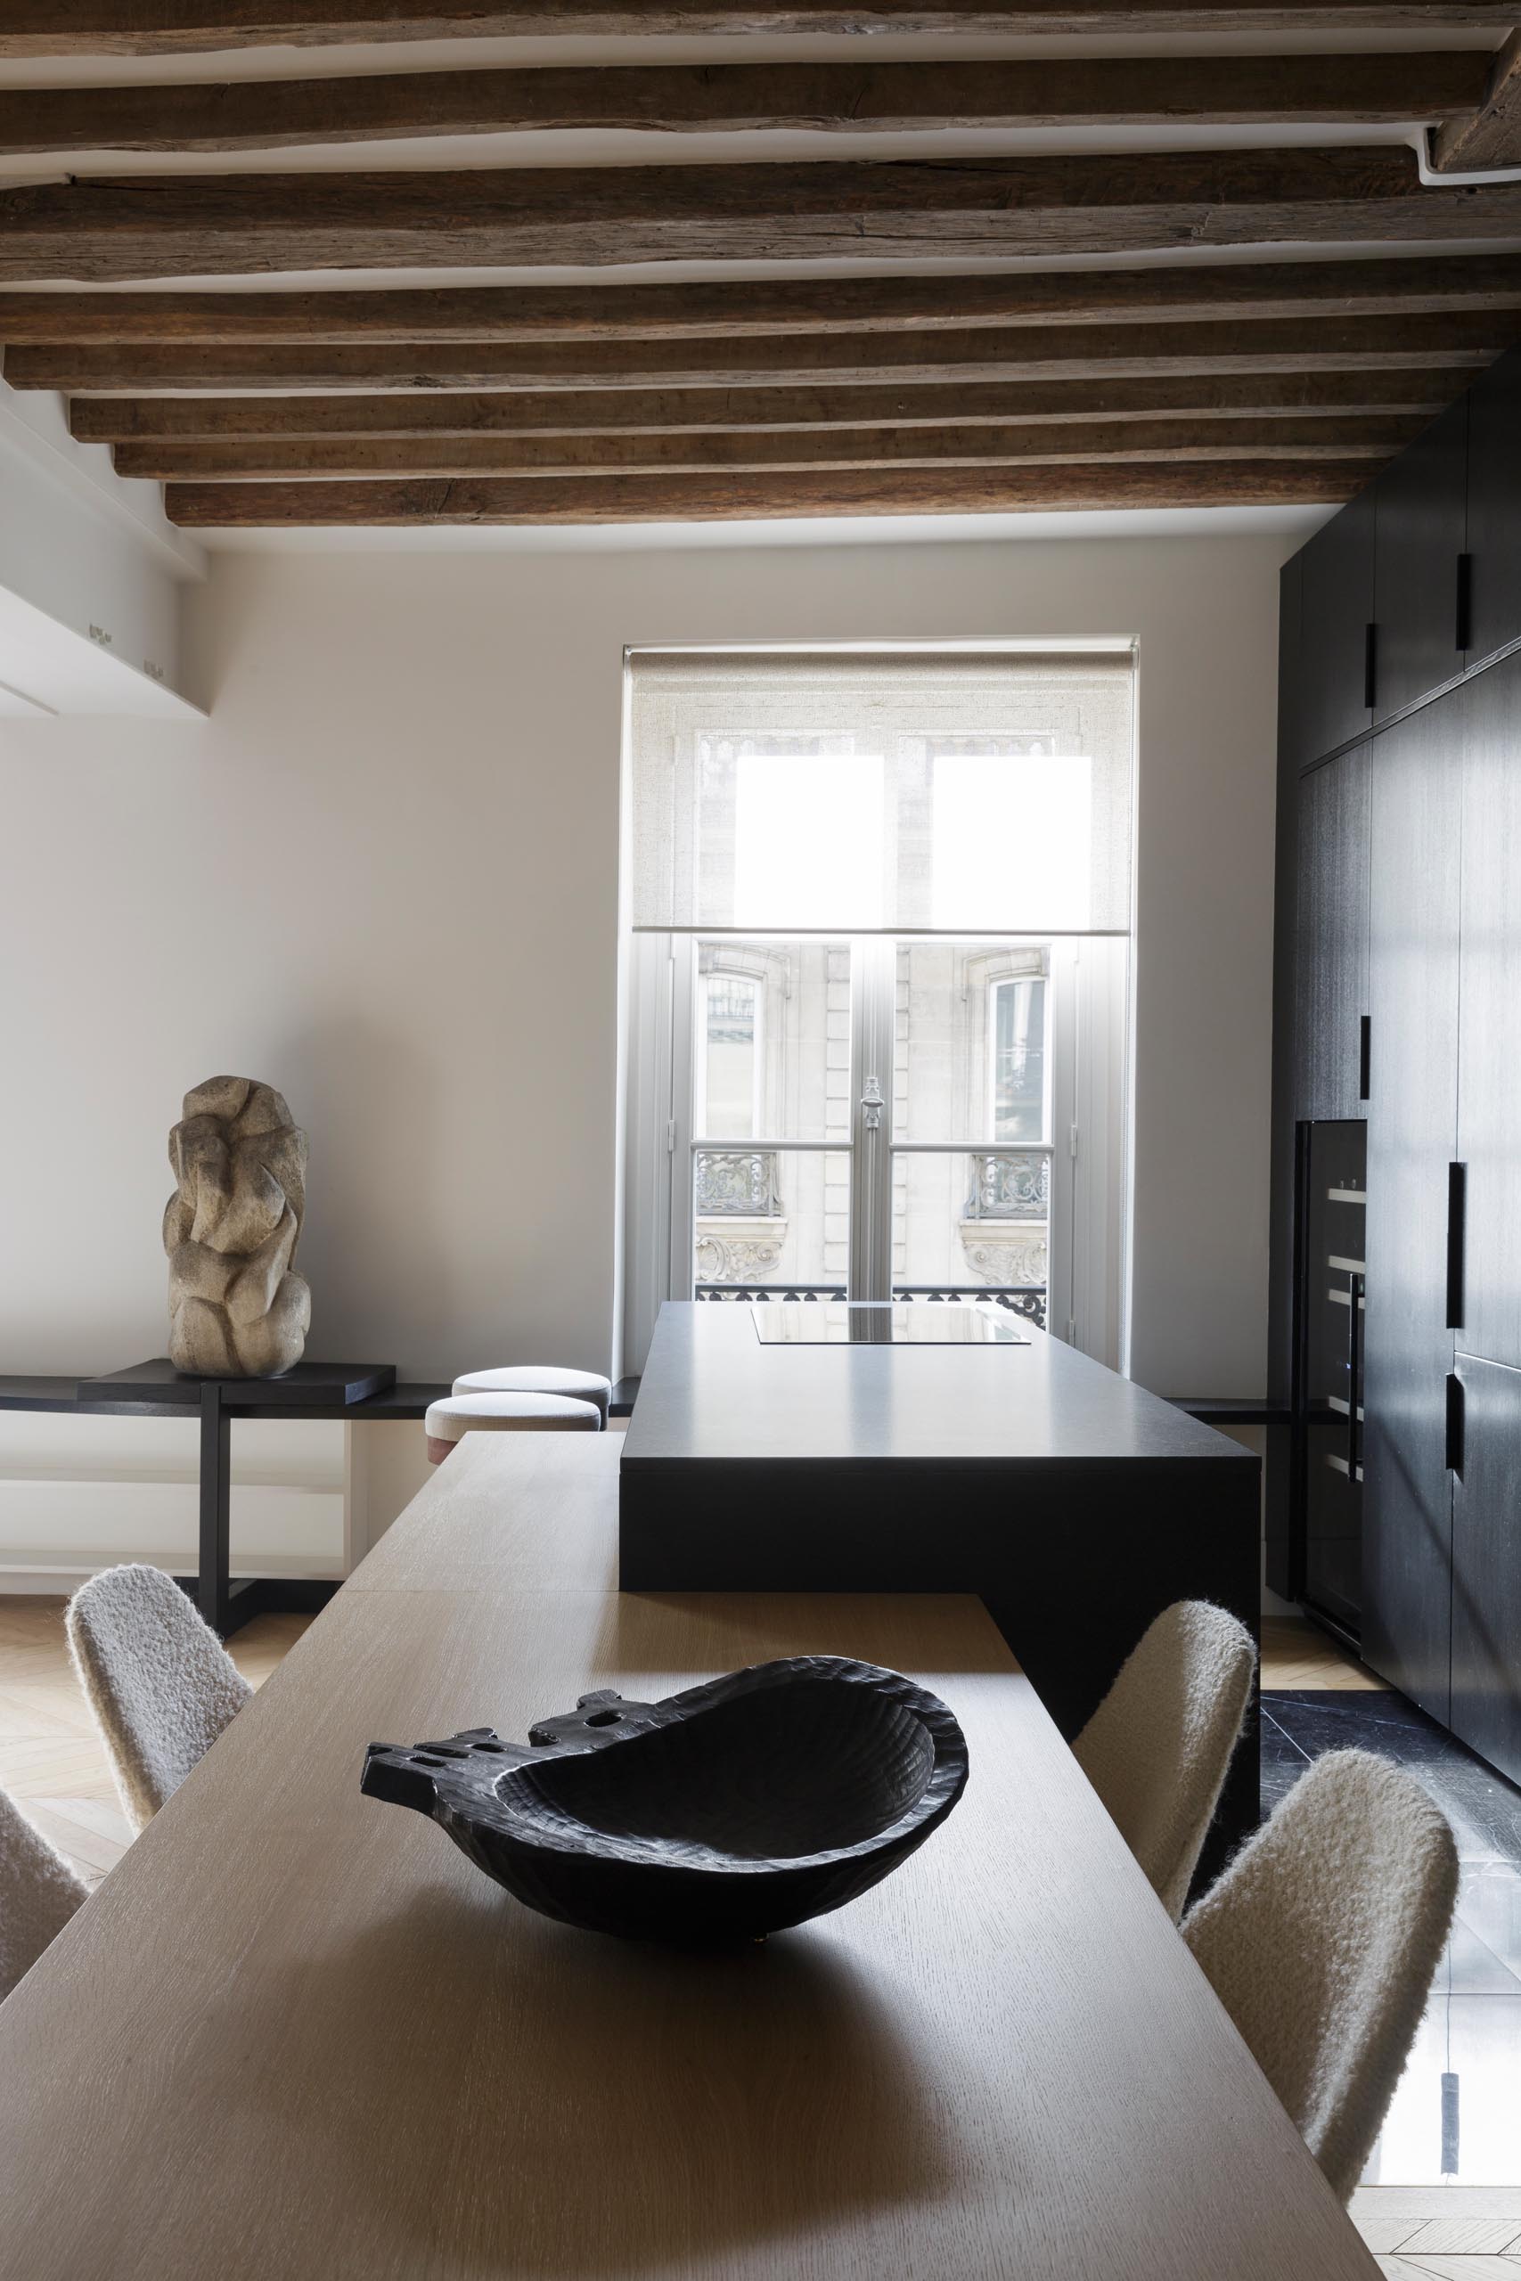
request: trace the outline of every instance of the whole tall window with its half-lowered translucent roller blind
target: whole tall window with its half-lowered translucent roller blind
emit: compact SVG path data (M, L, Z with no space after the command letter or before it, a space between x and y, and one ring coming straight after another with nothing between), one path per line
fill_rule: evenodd
M629 677L629 1366L661 1298L782 1293L1120 1359L1131 655Z

